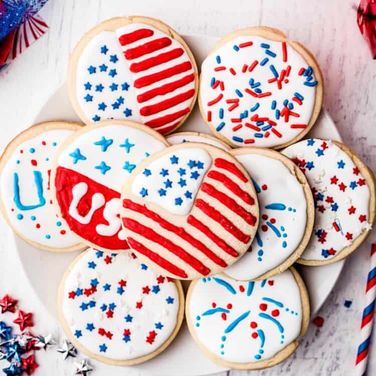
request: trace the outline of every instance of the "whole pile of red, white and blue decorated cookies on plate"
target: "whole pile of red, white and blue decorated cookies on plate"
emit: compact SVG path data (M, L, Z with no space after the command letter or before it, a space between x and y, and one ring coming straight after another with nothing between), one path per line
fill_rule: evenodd
M293 263L342 260L375 219L368 167L341 143L303 139L323 97L312 54L248 28L225 36L199 77L169 26L122 17L81 39L68 83L83 124L37 124L11 141L0 208L34 246L83 250L57 298L73 344L137 364L169 345L185 312L219 364L287 358L310 314ZM214 136L173 133L197 97ZM180 280L192 281L185 297Z

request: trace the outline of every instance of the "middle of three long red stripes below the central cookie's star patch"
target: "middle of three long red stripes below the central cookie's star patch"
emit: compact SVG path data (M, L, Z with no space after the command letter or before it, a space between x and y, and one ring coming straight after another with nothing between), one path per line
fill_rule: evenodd
M210 273L210 269L207 268L200 260L196 259L192 255L184 251L181 247L172 243L169 239L157 234L154 230L150 229L149 227L143 226L139 222L132 220L130 218L122 218L122 221L125 228L135 232L136 234L143 236L145 239L159 244L161 247L173 253L178 258L183 260L185 263L191 265L202 275L208 275Z

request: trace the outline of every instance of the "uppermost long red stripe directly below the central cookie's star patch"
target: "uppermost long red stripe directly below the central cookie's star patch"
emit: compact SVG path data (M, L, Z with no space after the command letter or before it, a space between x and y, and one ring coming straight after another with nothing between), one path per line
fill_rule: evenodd
M154 213L153 211L147 209L146 206L133 203L130 200L123 200L123 207L129 210L132 210L133 212L141 213L145 217L150 218L164 230L174 233L181 239L191 244L193 247L198 249L200 252L202 252L205 256L210 258L217 265L220 265L223 268L226 268L228 266L224 260L218 257L214 252L212 252L205 244L201 243L199 240L197 240L192 235L187 233L183 227L177 227L173 225L172 223L169 223L168 221L160 217L157 213Z

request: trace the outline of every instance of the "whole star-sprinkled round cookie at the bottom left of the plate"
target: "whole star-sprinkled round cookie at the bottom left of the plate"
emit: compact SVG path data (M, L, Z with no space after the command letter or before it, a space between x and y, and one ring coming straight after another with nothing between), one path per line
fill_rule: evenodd
M184 295L133 254L90 248L73 261L58 295L58 313L73 344L115 365L146 361L163 351L180 328Z

